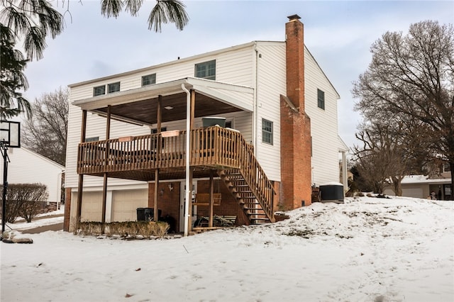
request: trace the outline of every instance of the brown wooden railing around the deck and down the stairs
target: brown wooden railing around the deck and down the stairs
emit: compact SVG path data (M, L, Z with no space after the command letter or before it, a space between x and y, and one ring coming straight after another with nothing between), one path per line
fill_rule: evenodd
M184 168L186 131L128 136L79 144L77 173L101 174L162 168ZM239 169L265 211L275 194L248 144L237 130L218 126L191 130L190 165Z

